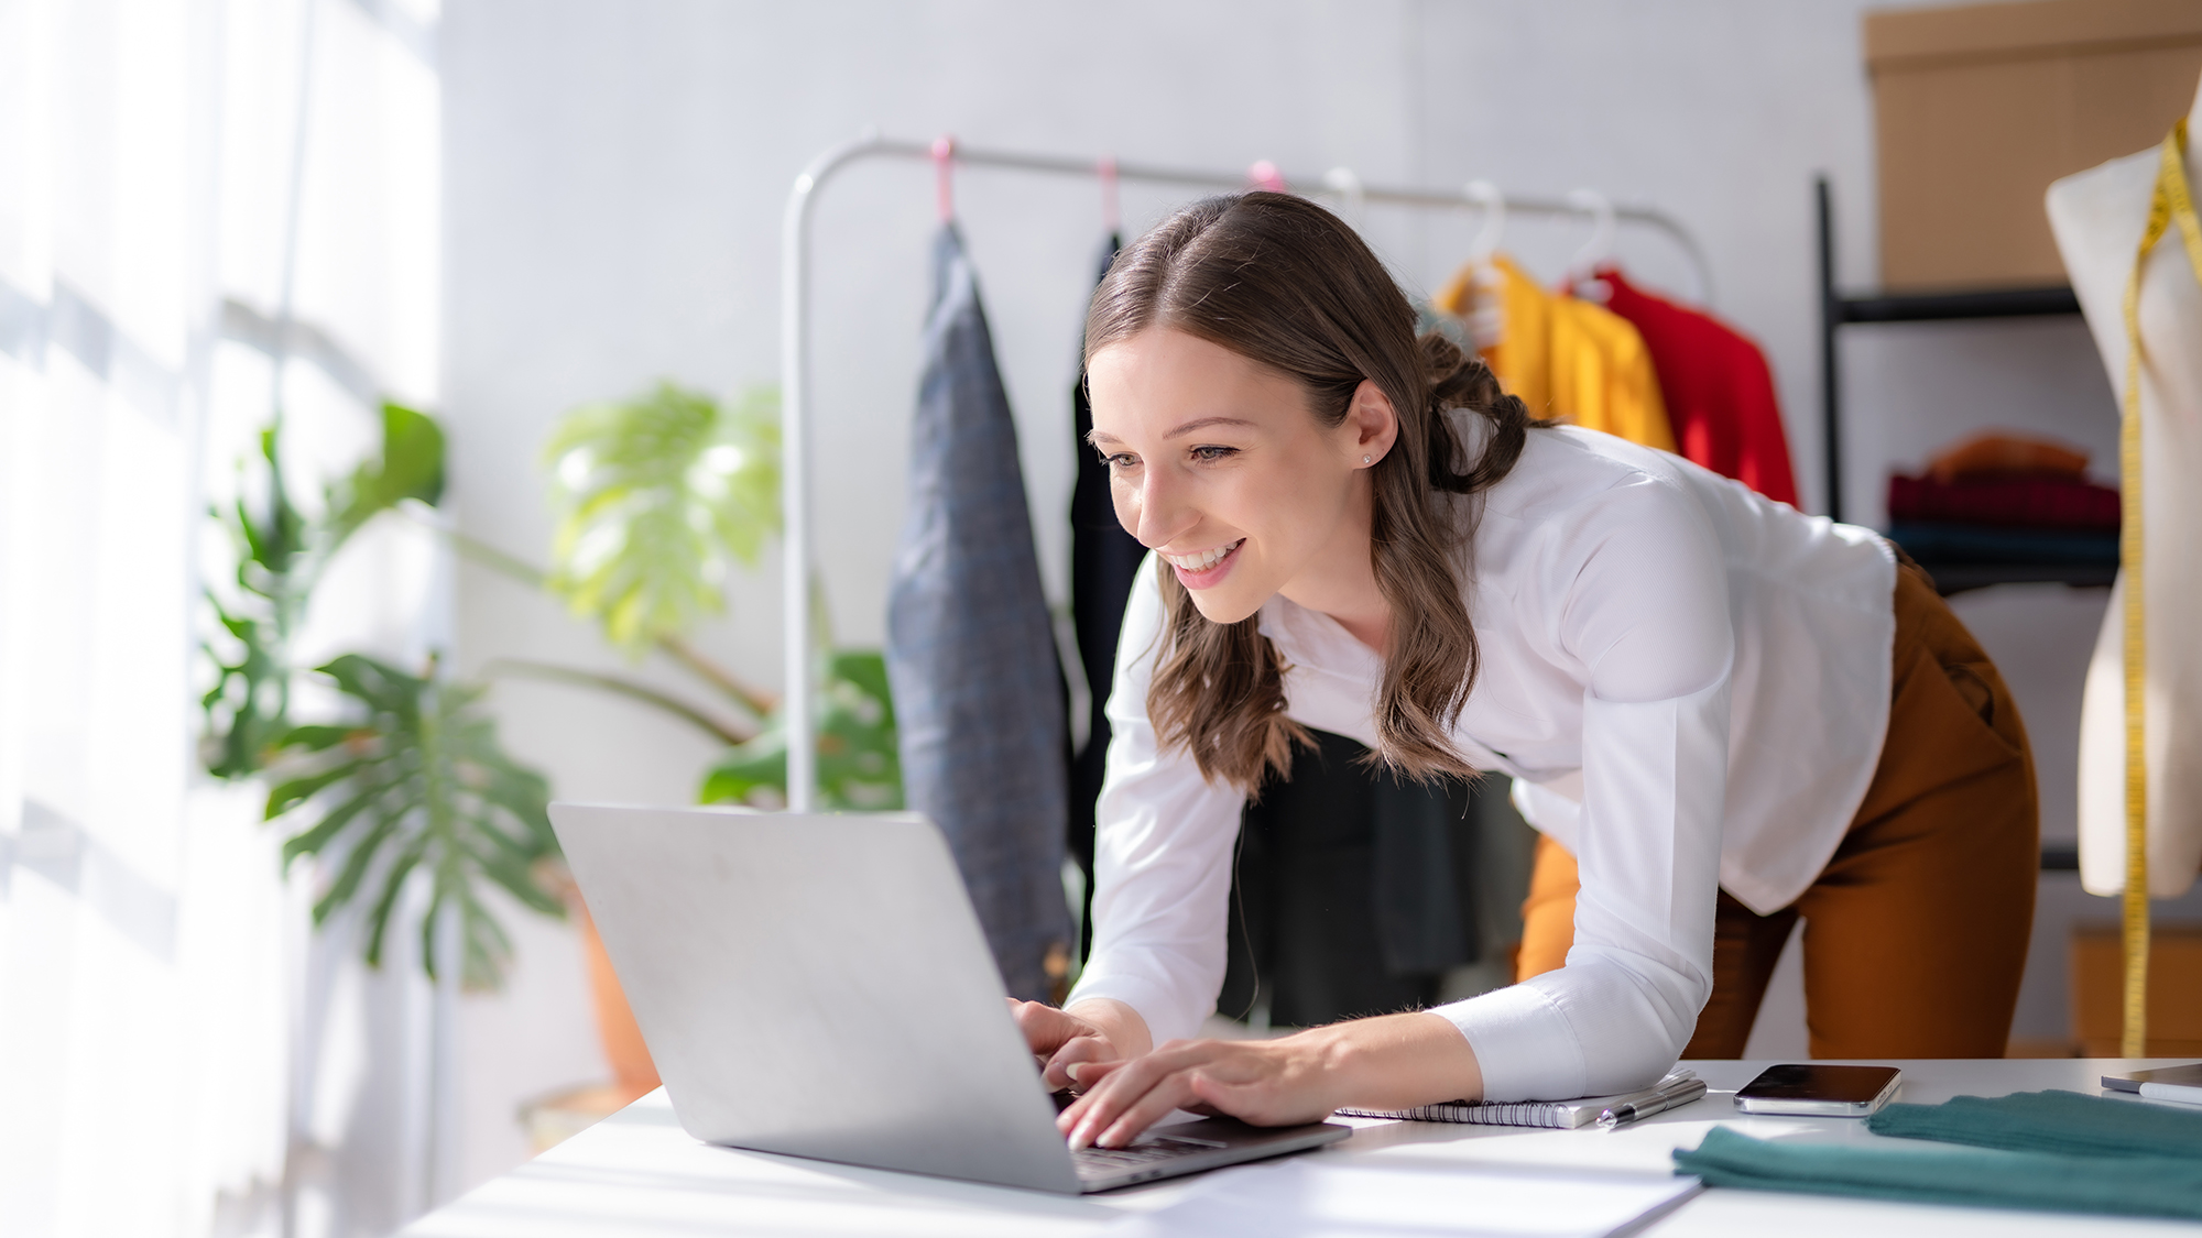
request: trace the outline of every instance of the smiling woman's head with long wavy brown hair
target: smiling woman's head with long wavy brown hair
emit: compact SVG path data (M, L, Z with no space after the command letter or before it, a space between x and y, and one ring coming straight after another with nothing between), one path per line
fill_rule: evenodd
M1445 337L1416 339L1361 238L1288 194L1209 198L1141 238L1094 293L1086 350L1116 515L1176 566L1149 698L1165 740L1249 793L1290 767L1306 734L1251 621L1282 593L1389 650L1389 767L1473 775L1445 740L1478 670L1453 566L1464 529L1431 491L1506 476L1522 401ZM1469 471L1451 408L1491 427Z

